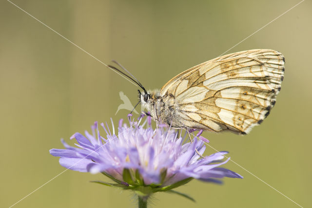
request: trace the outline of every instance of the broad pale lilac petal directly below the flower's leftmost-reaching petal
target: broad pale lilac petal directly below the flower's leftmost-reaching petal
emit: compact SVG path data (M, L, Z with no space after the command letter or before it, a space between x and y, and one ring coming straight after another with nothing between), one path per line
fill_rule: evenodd
M59 164L61 166L79 172L87 172L87 166L91 163L93 163L91 160L85 158L59 158Z

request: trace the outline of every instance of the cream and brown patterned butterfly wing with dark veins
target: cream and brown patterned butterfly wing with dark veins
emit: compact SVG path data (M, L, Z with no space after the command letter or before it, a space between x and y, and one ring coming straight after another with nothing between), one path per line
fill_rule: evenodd
M284 64L283 55L269 49L217 57L172 78L160 96L175 98L184 127L246 134L274 106Z

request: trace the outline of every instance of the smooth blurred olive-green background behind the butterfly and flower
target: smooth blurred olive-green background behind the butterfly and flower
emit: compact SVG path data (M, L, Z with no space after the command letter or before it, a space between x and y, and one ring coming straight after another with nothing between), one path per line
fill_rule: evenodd
M55 31L105 63L116 59L146 88L215 58L290 9L299 0L14 0ZM205 132L210 145L303 207L312 207L312 2L290 12L228 53L278 50L286 58L276 105L247 136ZM63 148L94 121L115 122L118 93L135 104L137 87L10 2L0 3L0 207L9 207L65 170L52 148ZM73 143L73 142L69 142ZM207 147L205 154L215 150ZM192 181L177 190L187 199L156 194L153 207L297 207L233 162L224 167L244 176L222 186ZM136 198L68 170L15 207L136 207Z

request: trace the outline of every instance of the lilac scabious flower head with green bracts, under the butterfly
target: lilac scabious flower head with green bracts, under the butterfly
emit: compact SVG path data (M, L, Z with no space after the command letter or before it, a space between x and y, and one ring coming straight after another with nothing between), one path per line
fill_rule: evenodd
M63 149L52 149L53 156L59 156L61 166L80 172L103 173L116 184L96 181L107 186L132 189L138 195L149 196L157 191L168 191L192 179L206 182L220 182L218 178L242 178L239 174L220 168L225 161L226 151L216 152L201 158L206 146L201 140L188 142L185 135L166 125L153 129L150 120L130 121L130 125L119 121L118 133L112 132L107 123L100 124L106 136L101 136L98 123L92 126L92 133L85 136L75 133L71 139L78 142L71 147L64 140ZM147 127L145 127L147 126ZM199 137L197 134L195 137Z

